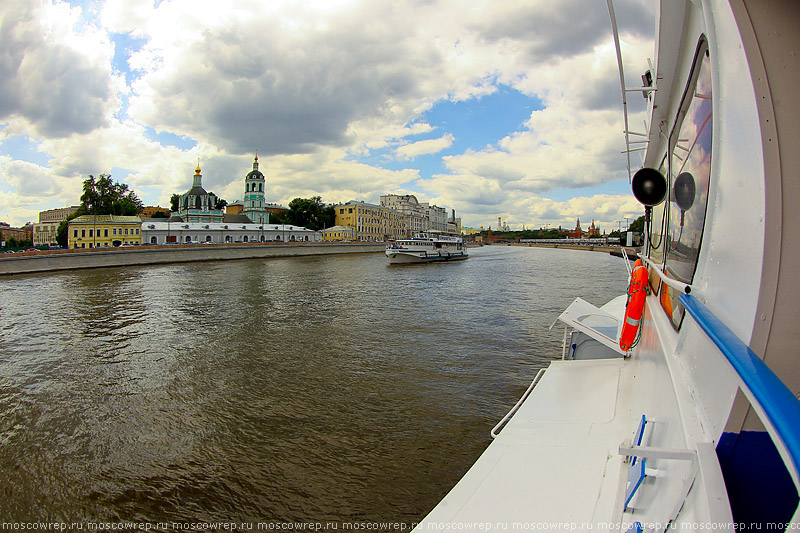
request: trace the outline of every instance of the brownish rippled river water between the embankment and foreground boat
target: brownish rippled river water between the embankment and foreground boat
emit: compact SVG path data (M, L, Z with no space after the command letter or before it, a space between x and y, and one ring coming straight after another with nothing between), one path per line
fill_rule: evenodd
M621 259L487 246L0 278L0 518L419 521Z

